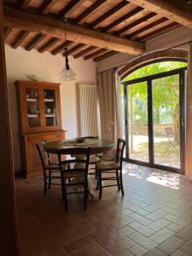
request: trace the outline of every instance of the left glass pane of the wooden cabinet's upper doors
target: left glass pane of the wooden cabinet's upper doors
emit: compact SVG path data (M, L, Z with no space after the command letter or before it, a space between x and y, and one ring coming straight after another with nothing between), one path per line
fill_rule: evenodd
M26 115L27 125L30 128L41 126L39 90L37 88L26 88Z

